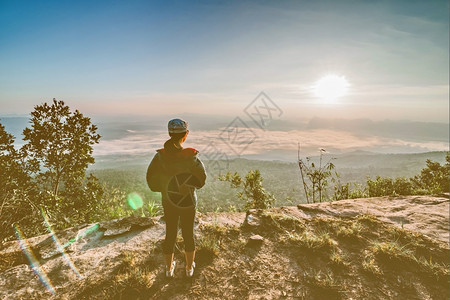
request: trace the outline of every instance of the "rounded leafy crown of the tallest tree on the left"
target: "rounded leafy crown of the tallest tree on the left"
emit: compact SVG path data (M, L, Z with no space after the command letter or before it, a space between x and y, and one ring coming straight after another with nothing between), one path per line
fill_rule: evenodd
M54 196L61 184L78 186L88 164L94 163L92 145L98 143L97 127L78 110L71 112L63 101L37 105L31 113L31 128L23 131L23 150L33 171L44 178ZM44 184L44 183L41 183Z

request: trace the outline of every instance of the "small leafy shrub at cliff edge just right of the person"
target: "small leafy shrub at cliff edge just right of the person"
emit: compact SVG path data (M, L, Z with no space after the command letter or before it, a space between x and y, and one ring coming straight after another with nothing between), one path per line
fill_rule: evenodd
M238 192L238 197L245 202L245 209L250 208L270 208L275 202L272 194L268 193L263 185L263 178L259 170L250 170L242 180L239 173L231 174L227 172L225 175L220 175L219 180L230 182L233 188L242 186L242 191Z

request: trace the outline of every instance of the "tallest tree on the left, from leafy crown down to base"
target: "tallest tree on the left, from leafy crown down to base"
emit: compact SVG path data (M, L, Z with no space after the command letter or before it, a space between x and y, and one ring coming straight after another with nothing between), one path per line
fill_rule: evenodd
M59 221L88 221L102 195L97 178L85 176L94 163L92 146L100 139L97 127L56 99L35 106L30 123L22 151L41 190L40 203Z

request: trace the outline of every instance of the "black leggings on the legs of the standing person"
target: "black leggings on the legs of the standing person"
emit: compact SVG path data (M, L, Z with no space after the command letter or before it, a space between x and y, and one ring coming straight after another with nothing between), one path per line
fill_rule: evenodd
M166 239L164 240L164 254L174 252L178 233L178 220L180 220L181 233L184 240L184 250L192 252L195 250L194 241L194 219L195 208L179 210L169 205L164 205L164 219L166 221Z

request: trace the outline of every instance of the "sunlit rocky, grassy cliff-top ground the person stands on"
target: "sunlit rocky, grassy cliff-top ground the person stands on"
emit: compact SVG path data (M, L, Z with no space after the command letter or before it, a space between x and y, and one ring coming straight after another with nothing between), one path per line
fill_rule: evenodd
M449 199L199 215L197 268L164 275L161 218L0 245L0 299L449 299ZM58 246L59 245L59 246ZM24 255L24 253L26 255Z

